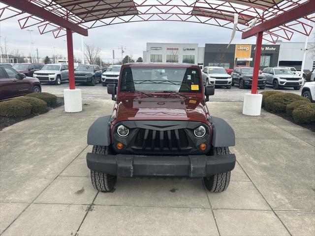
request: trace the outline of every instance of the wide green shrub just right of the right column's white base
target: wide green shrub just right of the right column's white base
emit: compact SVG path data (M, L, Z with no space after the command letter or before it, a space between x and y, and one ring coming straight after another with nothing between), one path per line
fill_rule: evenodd
M308 101L307 98L290 92L282 92L271 95L265 99L265 109L269 112L283 113L286 105L294 101Z

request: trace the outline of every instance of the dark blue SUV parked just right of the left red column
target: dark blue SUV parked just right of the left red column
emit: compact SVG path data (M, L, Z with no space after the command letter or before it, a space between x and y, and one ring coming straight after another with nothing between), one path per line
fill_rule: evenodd
M79 65L74 71L75 83L95 86L95 82L102 83L102 70L98 65Z

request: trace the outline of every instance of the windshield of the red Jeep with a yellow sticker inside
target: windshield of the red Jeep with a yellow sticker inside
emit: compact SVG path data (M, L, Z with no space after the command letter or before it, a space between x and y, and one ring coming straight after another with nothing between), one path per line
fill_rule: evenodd
M199 92L201 84L197 69L181 67L135 67L125 68L120 91L176 91Z

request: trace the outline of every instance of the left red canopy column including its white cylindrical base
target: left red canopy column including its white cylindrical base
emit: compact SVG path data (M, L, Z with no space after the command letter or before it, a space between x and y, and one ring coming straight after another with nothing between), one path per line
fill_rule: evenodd
M75 89L74 81L74 60L73 60L73 43L72 30L66 29L67 32L67 51L68 51L68 69L69 69L69 89L63 89L64 111L81 112L82 111L82 94L81 89Z

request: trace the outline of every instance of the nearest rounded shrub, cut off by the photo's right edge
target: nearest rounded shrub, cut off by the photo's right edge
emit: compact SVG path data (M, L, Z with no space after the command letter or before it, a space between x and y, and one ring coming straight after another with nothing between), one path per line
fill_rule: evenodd
M309 103L295 108L292 117L299 124L315 122L315 104Z

